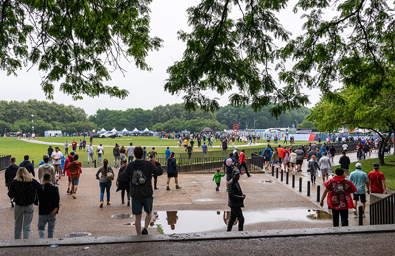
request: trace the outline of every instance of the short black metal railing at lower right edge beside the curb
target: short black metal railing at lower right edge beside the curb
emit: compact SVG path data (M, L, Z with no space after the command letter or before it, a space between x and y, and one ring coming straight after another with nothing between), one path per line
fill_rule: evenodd
M395 194L369 205L370 225L395 224Z

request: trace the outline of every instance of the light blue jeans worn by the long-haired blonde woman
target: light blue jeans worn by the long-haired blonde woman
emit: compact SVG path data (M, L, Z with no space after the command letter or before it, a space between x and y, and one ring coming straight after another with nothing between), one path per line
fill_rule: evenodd
M14 239L21 239L23 227L23 239L30 238L30 226L33 219L34 205L19 206L15 204L14 208Z

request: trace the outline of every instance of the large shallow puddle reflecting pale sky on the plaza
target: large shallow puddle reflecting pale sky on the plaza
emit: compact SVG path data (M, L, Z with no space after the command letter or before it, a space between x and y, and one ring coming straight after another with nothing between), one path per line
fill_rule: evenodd
M332 215L323 210L278 209L269 211L244 211L244 224L275 221L328 221ZM150 226L160 233L204 232L215 229L226 230L230 211L154 211ZM236 220L233 225L236 225ZM280 227L279 227L280 228Z

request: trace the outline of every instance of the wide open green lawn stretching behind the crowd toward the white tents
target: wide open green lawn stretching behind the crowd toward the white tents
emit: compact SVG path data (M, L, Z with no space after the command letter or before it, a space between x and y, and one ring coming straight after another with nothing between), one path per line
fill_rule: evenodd
M63 143L66 140L69 142L73 141L75 139L76 141L80 141L80 139L83 139L83 137L52 137L52 138L45 138L45 137L39 137L36 140L40 141L47 141L47 142L59 142ZM87 142L89 143L89 138L86 138ZM133 145L142 145L142 146L147 146L147 152L149 152L152 148L152 146L170 146L170 150L175 152L175 153L184 153L184 147L180 147L177 145L176 140L171 140L171 139L159 139L159 137L123 137L123 138L94 138L93 139L93 144L97 145L102 143L103 145L115 145L115 143L118 143L120 145L124 145L125 147L129 145L130 142L133 142ZM266 140L261 140L261 142L266 142ZM306 143L305 141L295 141L296 145ZM215 142L213 143L214 145L220 145L220 142ZM235 143L235 145L241 145L245 143ZM265 143L266 144L266 143ZM282 141L279 141L279 144L282 144ZM194 152L199 152L202 151L201 148L197 147L198 143L195 142L195 147L194 147ZM286 145L287 147L289 146ZM54 145L52 145L54 147ZM64 152L63 146L59 146L61 151ZM265 147L265 145L256 145L252 144L251 146L248 147ZM11 155L16 158L16 163L20 163L23 161L23 157L25 155L30 156L30 161L34 160L34 167L38 167L38 163L42 161L43 156L47 154L47 148L48 145L45 144L36 144L36 143L30 143L22 140L18 140L16 138L5 138L1 137L0 138L0 154L3 155ZM232 148L232 147L229 147ZM241 147L240 147L241 149ZM94 147L94 151L96 150L96 147ZM156 152L158 153L165 153L166 147L156 147L155 148ZM219 147L209 147L208 151L221 151L222 149ZM69 151L71 151L71 147L69 147ZM77 147L77 154L80 156L80 161L83 164L83 167L93 167L93 164L88 164L88 153L85 151L78 151ZM97 159L97 155L94 155L95 159ZM104 156L103 159L107 158L110 163L113 163L113 156L112 156L112 147L105 147L104 148ZM97 166L99 166L97 164Z

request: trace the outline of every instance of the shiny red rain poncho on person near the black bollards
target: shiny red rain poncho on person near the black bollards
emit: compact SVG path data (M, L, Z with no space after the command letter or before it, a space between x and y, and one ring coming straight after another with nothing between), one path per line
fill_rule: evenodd
M353 209L351 193L357 192L357 187L344 176L335 175L325 182L325 187L329 189L328 205L335 210Z

